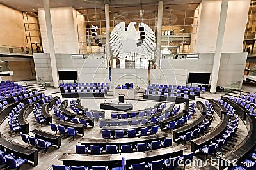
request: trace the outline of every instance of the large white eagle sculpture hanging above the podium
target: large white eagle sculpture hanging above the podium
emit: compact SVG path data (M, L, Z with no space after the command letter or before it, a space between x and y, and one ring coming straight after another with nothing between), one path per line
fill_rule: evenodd
M143 27L145 39L140 39L140 31L136 30L136 22L130 22L125 30L125 22L117 24L110 34L110 48L114 56L124 60L130 53L136 53L139 56L151 57L154 53L155 34L147 24L140 23ZM142 41L141 41L142 40ZM140 43L138 46L137 43Z

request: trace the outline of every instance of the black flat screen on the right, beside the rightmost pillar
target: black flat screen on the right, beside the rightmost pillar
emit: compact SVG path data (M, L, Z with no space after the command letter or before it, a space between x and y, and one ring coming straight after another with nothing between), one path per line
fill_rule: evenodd
M209 84L211 73L188 73L189 83Z

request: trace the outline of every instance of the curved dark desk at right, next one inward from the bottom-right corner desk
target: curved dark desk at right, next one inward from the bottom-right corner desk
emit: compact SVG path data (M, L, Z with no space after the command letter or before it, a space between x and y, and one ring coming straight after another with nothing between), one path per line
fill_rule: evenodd
M218 110L216 109L218 108L218 106L213 106L213 107L216 113L221 118L220 124L218 124L214 129L212 129L211 132L208 132L207 134L199 138L193 139L191 141L191 152L195 152L199 148L202 148L205 145L209 145L211 141L213 141L216 137L223 134L223 132L225 132L225 129L227 128L229 116L221 114L220 111L218 112Z

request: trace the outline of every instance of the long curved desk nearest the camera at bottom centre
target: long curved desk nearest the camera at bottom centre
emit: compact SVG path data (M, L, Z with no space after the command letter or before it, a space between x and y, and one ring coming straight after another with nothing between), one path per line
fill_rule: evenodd
M184 145L176 145L157 150L145 152L120 153L120 154L104 154L104 155L86 155L64 153L58 160L63 161L66 166L108 166L108 168L116 167L121 164L122 157L128 165L152 162L153 160L169 159L169 157L177 157L183 155L186 150Z

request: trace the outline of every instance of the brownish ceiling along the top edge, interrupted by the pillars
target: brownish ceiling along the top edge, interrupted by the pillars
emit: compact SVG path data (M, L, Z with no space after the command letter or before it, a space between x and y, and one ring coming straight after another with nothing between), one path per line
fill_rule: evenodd
M73 6L76 9L104 8L103 0L49 0L51 7ZM141 0L142 5L156 5L157 0ZM190 4L200 3L202 0L164 0L164 5L168 4ZM0 0L1 4L10 6L19 11L36 11L43 8L43 0ZM109 0L110 6L140 6L140 0Z

